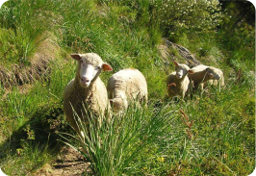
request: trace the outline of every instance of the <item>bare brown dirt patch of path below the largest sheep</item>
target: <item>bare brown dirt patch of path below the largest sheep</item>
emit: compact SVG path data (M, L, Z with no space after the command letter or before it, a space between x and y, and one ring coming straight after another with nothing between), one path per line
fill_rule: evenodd
M59 154L58 159L52 163L46 163L37 170L35 176L76 176L81 175L88 169L88 165L84 157L74 149L65 147Z

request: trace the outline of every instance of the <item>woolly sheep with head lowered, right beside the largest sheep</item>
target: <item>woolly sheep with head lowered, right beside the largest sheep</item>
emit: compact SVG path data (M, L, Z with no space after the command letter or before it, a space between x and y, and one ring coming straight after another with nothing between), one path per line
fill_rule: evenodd
M129 101L147 102L146 80L138 69L127 68L116 72L108 81L107 90L114 113L127 109Z

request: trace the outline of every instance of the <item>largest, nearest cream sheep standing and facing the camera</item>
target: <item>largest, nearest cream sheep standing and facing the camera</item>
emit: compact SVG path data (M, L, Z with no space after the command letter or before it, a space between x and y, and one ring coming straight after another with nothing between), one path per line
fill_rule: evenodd
M88 123L89 113L100 118L110 109L107 89L99 75L102 70L112 71L113 68L95 53L70 56L77 61L77 70L75 78L64 89L64 113L74 130L85 138L77 125L73 110L81 121ZM100 124L100 121L101 119L97 122Z

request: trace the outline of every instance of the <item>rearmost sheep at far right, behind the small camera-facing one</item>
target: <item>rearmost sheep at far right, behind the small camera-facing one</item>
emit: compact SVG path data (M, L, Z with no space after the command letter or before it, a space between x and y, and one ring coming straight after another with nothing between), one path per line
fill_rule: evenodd
M199 86L203 88L203 83L209 80L220 79L218 70L218 68L213 66L199 64L192 67L192 73L190 73L188 76L192 80L192 84L195 89L197 89Z

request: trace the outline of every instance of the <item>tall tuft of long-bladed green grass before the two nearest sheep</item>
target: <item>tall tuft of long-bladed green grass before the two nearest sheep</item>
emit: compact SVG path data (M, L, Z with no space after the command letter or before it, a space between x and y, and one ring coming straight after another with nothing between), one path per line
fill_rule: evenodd
M135 174L141 167L142 163L136 161L141 158L144 148L166 134L172 112L165 110L164 107L153 112L131 105L125 113L109 120L109 114L102 116L100 126L96 125L95 116L89 117L89 125L86 125L76 115L85 140L68 134L62 137L67 145L87 159L92 175ZM81 147L76 143L81 143Z

